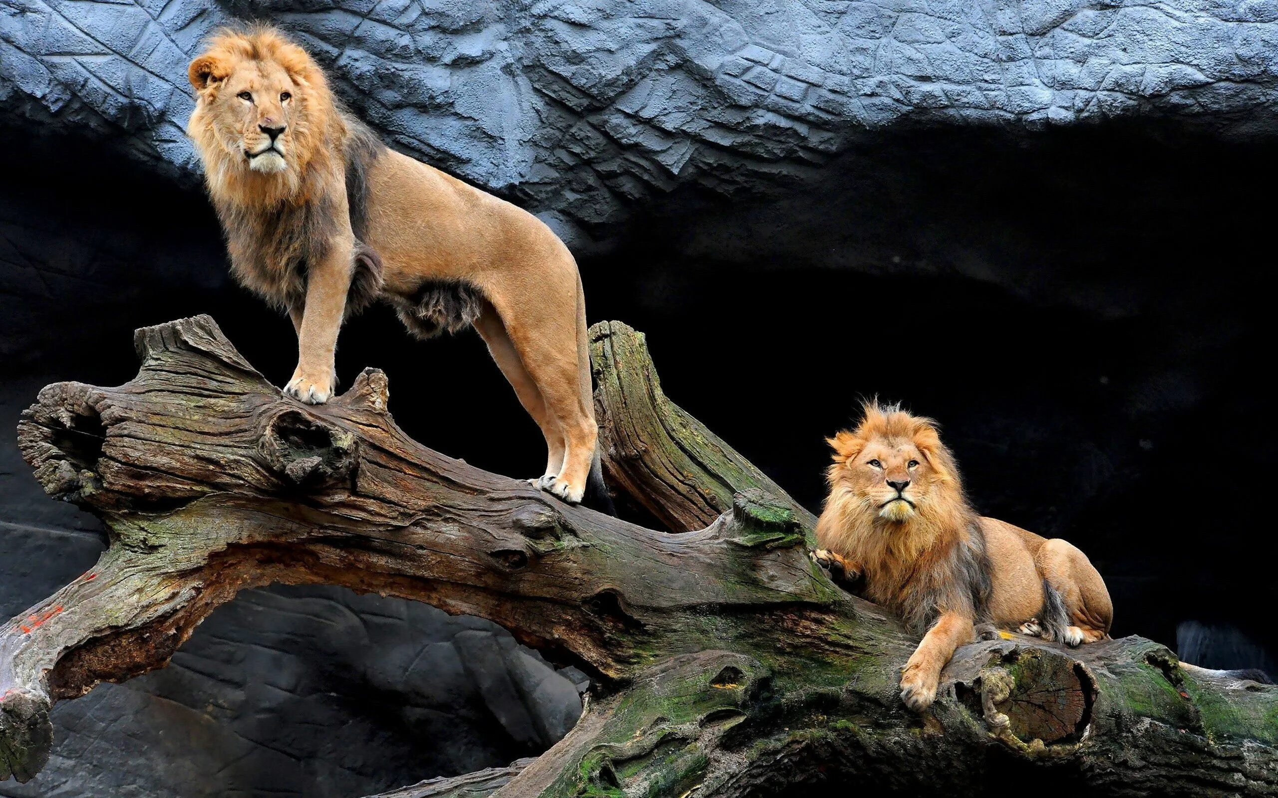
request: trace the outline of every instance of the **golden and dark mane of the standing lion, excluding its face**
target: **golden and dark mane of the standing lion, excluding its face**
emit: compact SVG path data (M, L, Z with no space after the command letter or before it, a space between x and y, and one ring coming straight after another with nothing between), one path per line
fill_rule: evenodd
M236 72L263 64L277 65L291 82L288 157L282 170L270 174L249 169L234 107L225 102L230 98L219 102ZM187 133L204 163L239 282L272 305L300 309L308 264L321 262L332 241L346 235L349 216L357 263L348 313L373 301L381 263L360 241L366 174L385 146L340 106L320 65L272 27L222 28L190 63L188 78L197 101Z

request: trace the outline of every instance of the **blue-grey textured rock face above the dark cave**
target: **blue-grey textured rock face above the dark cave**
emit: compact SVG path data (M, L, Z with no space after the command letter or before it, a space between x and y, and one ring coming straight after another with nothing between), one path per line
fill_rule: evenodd
M1210 0L6 0L0 107L189 175L185 64L252 14L397 147L570 237L677 184L791 183L882 129L1275 126L1278 10Z

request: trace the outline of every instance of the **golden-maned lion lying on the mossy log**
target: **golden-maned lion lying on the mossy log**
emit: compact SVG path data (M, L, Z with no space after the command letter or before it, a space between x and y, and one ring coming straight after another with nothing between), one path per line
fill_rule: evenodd
M1071 646L1109 637L1109 591L1086 555L978 516L930 419L868 403L856 429L828 443L813 559L923 636L901 673L910 709L932 705L941 669L976 624Z

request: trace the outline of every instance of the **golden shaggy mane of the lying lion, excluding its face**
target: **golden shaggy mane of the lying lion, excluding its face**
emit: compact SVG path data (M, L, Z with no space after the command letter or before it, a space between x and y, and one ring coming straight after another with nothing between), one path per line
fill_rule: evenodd
M875 440L912 443L930 467L929 489L904 521L883 518L851 478L849 465ZM935 421L870 401L852 430L827 443L833 463L826 471L829 495L817 523L819 545L856 561L866 598L898 612L915 629L925 629L938 609L975 618L989 585L984 539Z

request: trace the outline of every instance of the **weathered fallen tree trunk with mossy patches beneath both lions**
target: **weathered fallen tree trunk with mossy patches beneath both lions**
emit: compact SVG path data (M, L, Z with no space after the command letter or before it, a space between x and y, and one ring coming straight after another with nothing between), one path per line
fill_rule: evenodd
M288 400L207 317L138 331L124 386L46 387L23 455L111 544L0 627L0 778L40 771L54 701L165 665L238 590L326 582L492 619L597 682L541 757L401 798L849 780L979 794L1008 774L1051 774L1048 792L1278 794L1278 688L1181 668L1139 637L966 646L933 709L907 711L915 641L812 564L812 515L665 398L638 333L592 335L608 475L691 531L569 507L413 442L380 372L322 407Z

